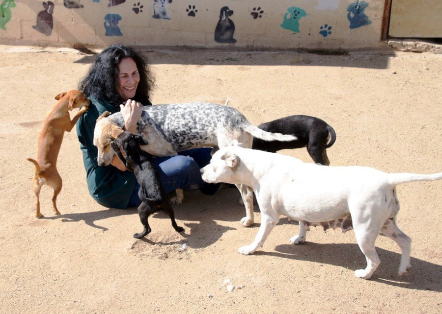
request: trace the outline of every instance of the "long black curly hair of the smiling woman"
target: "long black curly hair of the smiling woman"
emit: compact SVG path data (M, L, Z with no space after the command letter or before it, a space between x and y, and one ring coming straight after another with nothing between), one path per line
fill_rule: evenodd
M119 108L125 101L118 94L118 64L123 58L132 58L139 72L137 92L132 100L146 105L150 101L150 92L154 84L147 59L133 48L123 45L112 45L97 55L95 63L80 82L79 90L86 97L106 99L111 105Z

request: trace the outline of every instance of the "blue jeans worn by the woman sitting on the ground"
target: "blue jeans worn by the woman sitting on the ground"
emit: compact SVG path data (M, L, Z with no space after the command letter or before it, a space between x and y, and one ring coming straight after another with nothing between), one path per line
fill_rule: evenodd
M166 194L180 188L185 191L201 190L202 193L212 195L219 184L210 184L203 181L199 169L208 165L212 156L212 148L193 148L181 151L177 156L155 158L153 164L158 170L160 181ZM141 204L138 198L139 184L135 186L128 207L137 207Z

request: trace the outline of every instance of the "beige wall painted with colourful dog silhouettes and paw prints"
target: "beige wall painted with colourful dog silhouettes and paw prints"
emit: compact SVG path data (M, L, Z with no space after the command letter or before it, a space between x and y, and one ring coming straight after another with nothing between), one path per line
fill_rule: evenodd
M162 7L162 2L164 7ZM0 0L12 45L383 48L384 0ZM216 31L221 8L234 32ZM225 28L225 27L224 27Z

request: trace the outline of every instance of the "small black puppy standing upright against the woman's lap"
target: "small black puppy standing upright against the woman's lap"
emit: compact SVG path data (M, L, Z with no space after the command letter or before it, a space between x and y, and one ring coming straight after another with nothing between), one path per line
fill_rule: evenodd
M141 150L139 145L147 145L147 142L141 136L127 131L122 132L115 142L111 142L112 149L126 168L135 173L140 185L138 197L141 204L138 206L138 215L144 230L141 233L134 234L134 238L140 239L152 231L147 218L160 210L169 214L172 226L177 232L184 231L184 228L176 224L172 206L166 198L166 192L160 182L158 171L152 164L152 155ZM125 157L121 151L126 154Z

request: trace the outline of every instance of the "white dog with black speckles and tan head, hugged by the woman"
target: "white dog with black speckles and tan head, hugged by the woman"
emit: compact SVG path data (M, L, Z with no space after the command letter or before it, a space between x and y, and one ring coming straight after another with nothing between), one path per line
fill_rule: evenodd
M253 137L266 141L293 141L295 136L270 133L247 121L237 109L225 105L194 102L142 107L137 134L149 144L141 149L154 156L174 156L178 151L194 147L213 147L213 152L224 146L251 148ZM98 147L98 165L111 163L114 151L111 142L123 132L120 112L104 112L94 130L94 145ZM237 185L246 206L243 226L253 224L253 191Z

